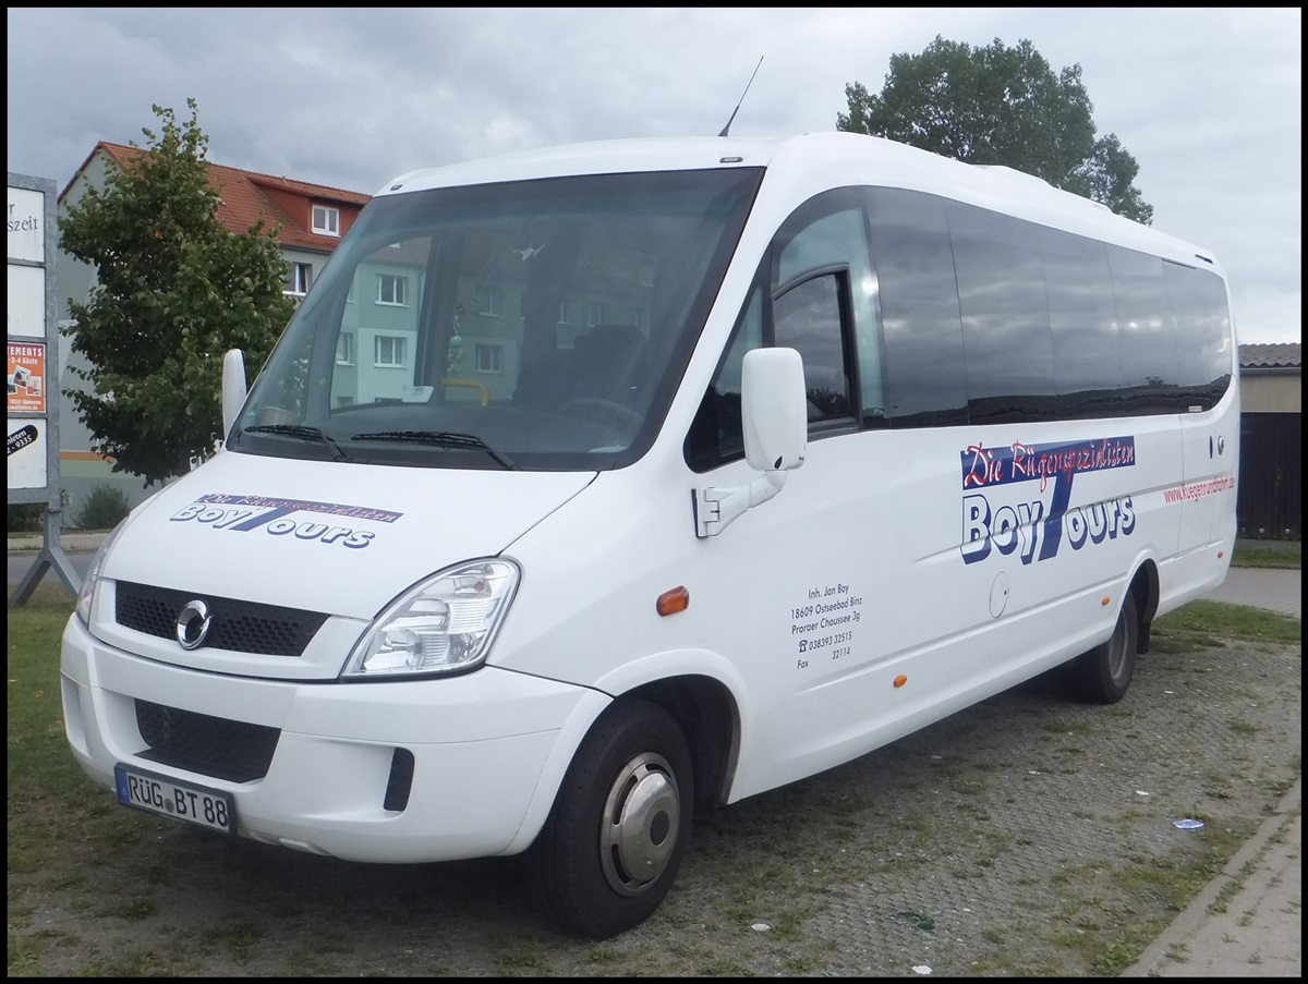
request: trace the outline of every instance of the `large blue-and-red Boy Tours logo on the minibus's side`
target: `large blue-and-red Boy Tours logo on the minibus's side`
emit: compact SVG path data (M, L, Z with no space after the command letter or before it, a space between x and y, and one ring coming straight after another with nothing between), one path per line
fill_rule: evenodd
M1087 471L1135 465L1134 437L1105 437L1057 445L1012 444L960 453L963 465L963 560L974 564L1019 551L1023 564L1135 530L1130 496L1071 506L1073 479ZM1023 495L1024 493L1024 495Z

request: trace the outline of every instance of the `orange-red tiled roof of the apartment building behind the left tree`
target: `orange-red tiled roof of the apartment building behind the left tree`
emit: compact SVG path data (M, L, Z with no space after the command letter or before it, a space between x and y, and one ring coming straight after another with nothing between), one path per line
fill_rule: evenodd
M136 147L101 140L77 169L78 174L98 152L103 152L119 167L145 153ZM340 237L313 232L313 205L318 203L340 209L340 233L344 236L370 199L358 191L246 171L212 161L207 166L209 183L220 195L218 221L224 228L233 233L246 233L262 219L268 226L281 226L277 241L283 246L331 253ZM60 199L68 194L69 187L72 182L60 194Z

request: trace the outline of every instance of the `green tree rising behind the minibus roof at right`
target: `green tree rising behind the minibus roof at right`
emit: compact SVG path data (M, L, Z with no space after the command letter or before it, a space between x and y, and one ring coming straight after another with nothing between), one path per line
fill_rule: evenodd
M1133 186L1139 165L1121 140L1095 139L1080 65L1054 75L1027 39L973 48L935 37L921 55L891 55L886 88L845 86L836 128L920 147L967 164L1006 165L1150 225Z

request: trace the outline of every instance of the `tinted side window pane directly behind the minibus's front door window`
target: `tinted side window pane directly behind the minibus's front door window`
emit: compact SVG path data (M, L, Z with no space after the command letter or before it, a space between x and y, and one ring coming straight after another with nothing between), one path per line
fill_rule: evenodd
M963 323L944 200L874 188L870 211L891 427L965 424Z

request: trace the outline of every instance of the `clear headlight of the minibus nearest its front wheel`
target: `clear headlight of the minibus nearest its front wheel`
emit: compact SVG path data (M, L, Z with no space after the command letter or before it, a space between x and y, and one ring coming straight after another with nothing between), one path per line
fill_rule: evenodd
M433 574L373 620L341 678L437 675L480 666L519 577L511 560L473 560Z

